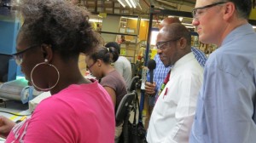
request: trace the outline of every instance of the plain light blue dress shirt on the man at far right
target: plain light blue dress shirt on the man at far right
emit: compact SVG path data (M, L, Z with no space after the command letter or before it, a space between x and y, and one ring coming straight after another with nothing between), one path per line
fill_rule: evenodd
M204 71L190 143L256 142L256 33L237 27Z

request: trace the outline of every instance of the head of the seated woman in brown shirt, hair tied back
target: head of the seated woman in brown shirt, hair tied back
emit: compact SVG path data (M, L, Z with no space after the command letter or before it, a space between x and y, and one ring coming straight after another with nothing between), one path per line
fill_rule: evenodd
M99 47L95 52L87 54L85 58L85 63L87 65L87 70L89 70L93 76L97 79L105 77L108 72L114 70L111 66L112 62L115 62L118 58L119 53L113 47Z

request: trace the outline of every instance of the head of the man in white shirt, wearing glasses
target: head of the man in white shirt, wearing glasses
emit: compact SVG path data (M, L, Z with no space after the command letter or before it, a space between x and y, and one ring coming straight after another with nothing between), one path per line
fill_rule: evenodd
M156 38L157 54L165 66L173 66L177 60L191 52L189 30L180 23L162 27Z

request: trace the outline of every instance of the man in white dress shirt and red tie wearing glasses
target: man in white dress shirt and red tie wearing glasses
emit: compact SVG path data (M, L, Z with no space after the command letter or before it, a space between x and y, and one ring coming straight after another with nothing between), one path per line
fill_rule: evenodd
M191 52L190 32L182 24L164 26L156 41L160 60L165 66L172 66L172 72L155 103L147 140L186 143L195 117L203 69Z

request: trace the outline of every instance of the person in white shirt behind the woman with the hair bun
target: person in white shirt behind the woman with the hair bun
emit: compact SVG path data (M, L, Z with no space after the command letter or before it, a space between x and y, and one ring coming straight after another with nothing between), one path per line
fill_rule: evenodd
M131 83L131 62L127 60L124 56L120 55L120 46L118 43L109 42L105 45L105 47L113 47L114 49L118 50L119 59L113 63L113 66L116 69L116 71L118 71L121 74L121 76L125 78L125 83L127 86L129 86Z

